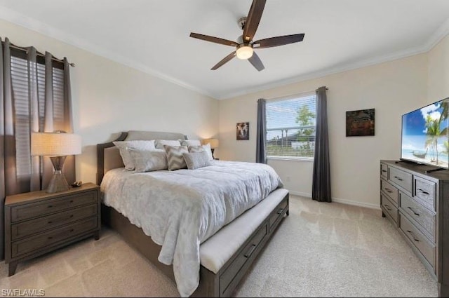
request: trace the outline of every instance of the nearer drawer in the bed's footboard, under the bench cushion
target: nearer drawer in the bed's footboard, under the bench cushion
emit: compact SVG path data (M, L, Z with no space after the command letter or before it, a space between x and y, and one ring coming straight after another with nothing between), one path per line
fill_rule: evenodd
M253 236L248 244L243 248L239 256L237 256L234 261L232 261L229 266L227 266L227 269L220 275L220 296L222 297L230 297L231 292L227 291L229 285L232 284L233 280L239 280L239 278L236 278L238 276L238 272L242 269L242 267L245 265L246 261L250 259L250 257L253 255L253 252L257 250L257 248L260 249L260 243L264 239L265 236L267 236L268 233L268 224L264 224L260 227L259 230L257 230L257 233L255 233L255 236ZM234 288L234 287L230 287Z

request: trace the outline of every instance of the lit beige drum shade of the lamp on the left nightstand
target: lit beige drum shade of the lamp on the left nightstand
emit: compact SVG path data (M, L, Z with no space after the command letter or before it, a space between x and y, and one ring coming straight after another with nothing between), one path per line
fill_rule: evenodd
M73 133L32 133L32 156L67 156L81 154L81 136Z

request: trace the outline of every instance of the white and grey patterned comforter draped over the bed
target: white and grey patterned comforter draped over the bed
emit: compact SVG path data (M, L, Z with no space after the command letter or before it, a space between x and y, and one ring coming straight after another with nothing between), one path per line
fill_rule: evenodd
M234 161L171 172L115 169L101 184L103 203L162 245L159 262L173 264L182 297L199 285L200 243L278 187L269 165Z

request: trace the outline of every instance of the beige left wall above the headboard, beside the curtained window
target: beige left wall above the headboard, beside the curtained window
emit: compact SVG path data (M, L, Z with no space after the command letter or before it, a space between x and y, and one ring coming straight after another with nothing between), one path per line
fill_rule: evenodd
M67 57L74 108L74 131L82 137L76 177L96 181L96 144L125 130L184 133L189 139L212 137L218 130L217 100L86 50L0 20L1 37L18 46L35 46Z

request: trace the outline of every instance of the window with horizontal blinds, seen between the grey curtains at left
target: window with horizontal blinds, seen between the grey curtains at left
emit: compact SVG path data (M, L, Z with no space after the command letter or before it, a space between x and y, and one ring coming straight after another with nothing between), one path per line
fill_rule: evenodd
M64 72L62 63L53 61L53 118L55 130L64 121ZM37 93L39 106L39 131L43 131L45 118L45 62L37 59ZM15 147L17 176L29 176L31 168L29 135L31 127L31 107L29 102L29 73L26 53L11 50L11 81L15 109Z

